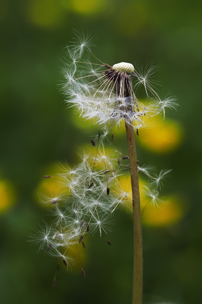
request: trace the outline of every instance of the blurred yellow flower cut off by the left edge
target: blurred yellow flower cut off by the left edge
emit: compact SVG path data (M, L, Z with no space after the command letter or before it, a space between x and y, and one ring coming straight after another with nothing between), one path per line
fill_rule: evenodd
M15 194L12 185L5 180L0 180L0 213L6 211L14 203Z

